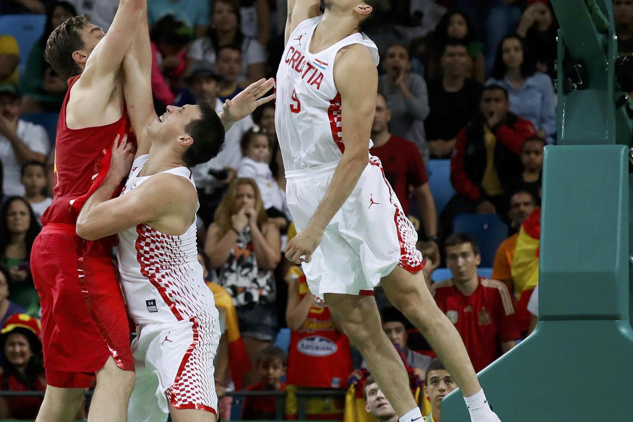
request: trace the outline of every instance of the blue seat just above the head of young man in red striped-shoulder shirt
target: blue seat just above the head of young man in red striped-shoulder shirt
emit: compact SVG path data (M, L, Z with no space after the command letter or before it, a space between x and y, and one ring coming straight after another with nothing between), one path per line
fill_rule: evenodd
M453 233L458 232L477 240L482 267L492 267L499 245L508 238L508 226L496 214L460 214L453 221Z

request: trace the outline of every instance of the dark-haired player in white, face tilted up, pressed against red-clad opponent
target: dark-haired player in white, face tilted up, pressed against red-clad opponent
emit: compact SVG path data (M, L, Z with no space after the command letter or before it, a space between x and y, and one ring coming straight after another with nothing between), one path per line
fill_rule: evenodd
M142 41L133 44L146 45L151 53L147 33L137 36ZM197 191L189 167L215 157L225 130L274 98L262 98L274 80L251 84L227 101L220 116L203 103L168 106L157 117L151 72L144 72L151 56L146 59L139 51L140 65L127 68L135 81L128 110L141 128L135 131L134 161L130 144L117 139L110 172L82 208L77 234L92 240L118 233L118 270L137 324L136 381L127 420L164 422L170 413L174 422L215 421L218 312L197 261ZM125 177L121 195L111 199Z

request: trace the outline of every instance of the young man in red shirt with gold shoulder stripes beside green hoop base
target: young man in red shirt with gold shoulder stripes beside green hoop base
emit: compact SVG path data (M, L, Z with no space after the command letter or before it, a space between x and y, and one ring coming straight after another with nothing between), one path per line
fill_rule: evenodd
M508 352L521 338L514 300L501 281L477 276L479 245L468 234L451 234L444 248L453 278L434 283L431 293L459 331L479 372L499 357L499 350Z

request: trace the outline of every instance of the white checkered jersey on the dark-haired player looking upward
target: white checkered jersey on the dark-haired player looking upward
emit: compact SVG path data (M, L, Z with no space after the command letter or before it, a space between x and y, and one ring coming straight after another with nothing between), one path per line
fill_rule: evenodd
M139 177L149 155L132 163L121 195L152 176ZM182 176L195 187L191 170L166 170ZM147 204L151 207L151 204ZM213 293L204 283L197 260L196 219L180 236L161 233L141 223L118 234L118 271L128 311L137 324L172 323L217 312Z

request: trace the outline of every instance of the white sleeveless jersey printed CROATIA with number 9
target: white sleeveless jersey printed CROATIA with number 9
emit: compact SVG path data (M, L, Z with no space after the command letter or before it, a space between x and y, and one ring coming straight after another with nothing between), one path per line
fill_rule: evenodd
M341 95L334 84L334 59L339 50L363 44L378 65L376 44L360 32L320 53L310 53L312 35L321 20L318 16L299 23L285 46L277 72L275 126L286 171L341 159Z

